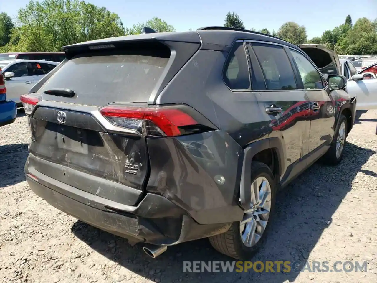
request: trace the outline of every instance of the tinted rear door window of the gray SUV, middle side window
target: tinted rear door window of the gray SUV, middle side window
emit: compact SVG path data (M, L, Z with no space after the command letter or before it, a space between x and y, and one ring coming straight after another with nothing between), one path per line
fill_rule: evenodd
M282 46L252 43L267 89L297 89L293 68Z

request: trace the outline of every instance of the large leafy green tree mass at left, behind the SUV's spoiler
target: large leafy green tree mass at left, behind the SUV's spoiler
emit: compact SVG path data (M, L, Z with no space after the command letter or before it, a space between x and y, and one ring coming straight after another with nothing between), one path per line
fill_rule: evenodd
M64 45L124 35L117 14L79 0L30 1L17 18L10 51L60 51Z

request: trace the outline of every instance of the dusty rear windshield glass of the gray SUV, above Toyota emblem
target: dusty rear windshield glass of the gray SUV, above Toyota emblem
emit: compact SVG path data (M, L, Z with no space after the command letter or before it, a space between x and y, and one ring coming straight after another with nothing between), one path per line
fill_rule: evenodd
M61 66L38 92L52 88L72 89L77 94L75 98L61 97L59 100L70 102L75 99L75 103L93 106L147 102L169 57L170 51L169 54L77 55Z

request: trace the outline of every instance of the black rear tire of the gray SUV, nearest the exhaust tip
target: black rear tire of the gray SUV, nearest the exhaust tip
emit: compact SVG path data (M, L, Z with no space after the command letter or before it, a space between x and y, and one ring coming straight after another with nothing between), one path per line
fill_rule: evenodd
M266 234L271 224L271 217L273 216L275 210L275 200L276 200L276 181L273 177L270 167L262 162L254 161L251 165L251 183L258 177L267 178L271 187L271 209L270 215L268 217L267 226L256 245L247 247L244 245L241 239L240 232L240 221L233 222L230 229L222 234L209 237L209 241L213 248L222 254L228 255L229 257L238 260L249 260L256 252L263 246Z

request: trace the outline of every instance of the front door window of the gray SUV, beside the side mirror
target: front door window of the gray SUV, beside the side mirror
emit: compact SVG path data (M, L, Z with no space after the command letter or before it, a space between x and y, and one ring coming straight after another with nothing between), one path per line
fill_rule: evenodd
M322 89L322 78L313 64L300 52L291 50L293 60L299 69L304 89Z

